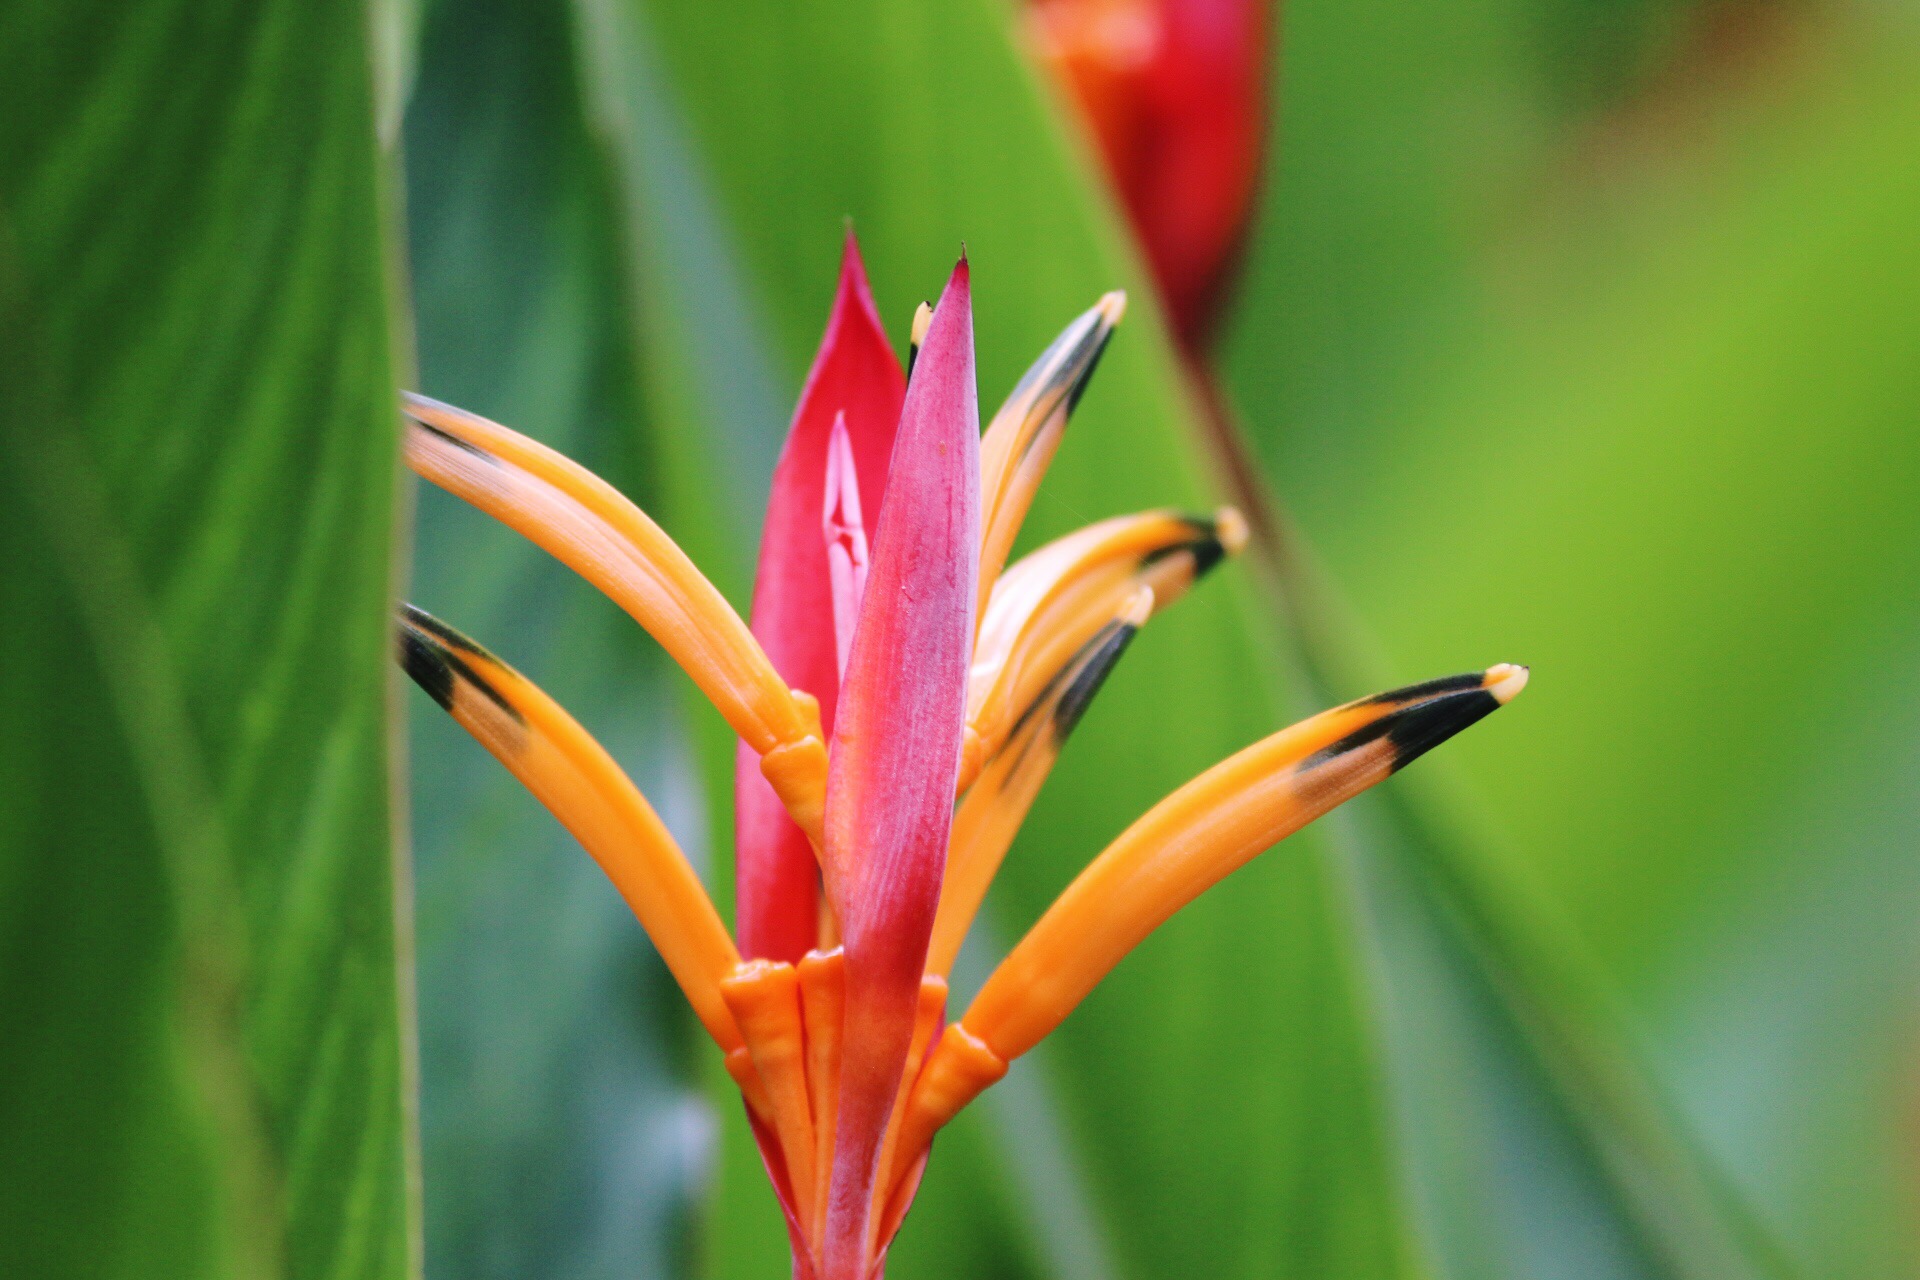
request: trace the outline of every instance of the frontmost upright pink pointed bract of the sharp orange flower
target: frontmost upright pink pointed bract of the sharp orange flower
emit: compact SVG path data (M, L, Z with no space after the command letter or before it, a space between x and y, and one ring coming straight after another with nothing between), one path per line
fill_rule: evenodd
M966 259L900 413L828 770L826 869L847 948L826 1276L864 1274L881 1136L906 1065L966 722L979 576L979 407Z

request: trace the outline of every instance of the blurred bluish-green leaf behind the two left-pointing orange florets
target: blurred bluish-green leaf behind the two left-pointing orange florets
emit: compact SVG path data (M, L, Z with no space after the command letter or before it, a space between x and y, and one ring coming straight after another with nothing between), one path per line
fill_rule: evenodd
M653 505L616 201L564 6L444 0L405 123L420 390L511 422ZM703 850L647 635L520 535L419 489L413 599L541 683ZM574 839L411 699L426 1270L676 1268L712 1119L693 1023Z

